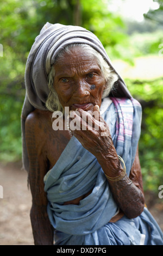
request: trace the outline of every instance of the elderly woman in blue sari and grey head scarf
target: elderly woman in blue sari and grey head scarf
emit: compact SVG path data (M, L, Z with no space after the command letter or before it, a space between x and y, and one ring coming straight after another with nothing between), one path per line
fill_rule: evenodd
M97 37L46 23L25 78L23 163L35 245L162 245L143 196L141 106Z

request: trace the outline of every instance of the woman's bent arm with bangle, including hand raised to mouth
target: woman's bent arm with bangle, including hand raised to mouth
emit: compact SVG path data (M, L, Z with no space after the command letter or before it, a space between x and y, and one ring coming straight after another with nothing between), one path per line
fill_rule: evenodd
M96 110L97 109L95 106L94 111ZM76 117L76 121L77 118L79 118L80 124L82 125L82 122L86 120L86 118L84 117L84 114L86 115L86 113L84 113L82 109L78 109L78 112L80 113L80 116ZM103 126L100 126L98 130L75 130L72 131L72 133L74 134L74 136L77 137L80 143L82 143L84 148L86 148L93 155L96 156L99 164L101 164L105 175L111 178L116 178L117 176L122 174L123 164L121 164L120 160L118 159L116 149L110 135L109 127L105 124L103 119L100 120L102 121L97 121L93 118L91 120L93 125L95 123L99 123ZM85 123L85 125L88 128L89 124ZM101 136L104 125L106 128L106 136ZM137 179L141 179L141 168L138 150L131 173L133 173L133 170L135 170L134 173L136 173L136 176L134 175L130 178L127 175L124 175L124 177L118 181L113 181L112 179L107 178L114 199L116 200L118 206L121 208L124 214L129 218L135 218L139 216L143 211L145 205L141 185L139 184L139 182L137 182Z

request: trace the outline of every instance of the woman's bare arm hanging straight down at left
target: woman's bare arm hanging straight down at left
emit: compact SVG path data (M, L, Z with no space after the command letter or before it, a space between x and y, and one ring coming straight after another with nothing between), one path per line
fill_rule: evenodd
M32 223L35 245L53 245L53 227L47 215L47 198L43 176L47 173L47 159L43 153L43 137L39 131L40 120L31 113L26 120L26 142L29 157L29 185L32 192Z

